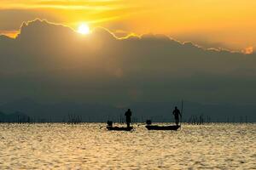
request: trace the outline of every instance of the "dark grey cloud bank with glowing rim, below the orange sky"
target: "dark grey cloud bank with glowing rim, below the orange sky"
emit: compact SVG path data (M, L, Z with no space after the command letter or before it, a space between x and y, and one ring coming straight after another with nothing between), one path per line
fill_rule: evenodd
M255 64L256 54L165 36L117 39L103 28L81 36L35 20L16 39L0 37L0 110L105 121L131 107L137 117L171 121L172 107L184 99L185 116L255 122Z

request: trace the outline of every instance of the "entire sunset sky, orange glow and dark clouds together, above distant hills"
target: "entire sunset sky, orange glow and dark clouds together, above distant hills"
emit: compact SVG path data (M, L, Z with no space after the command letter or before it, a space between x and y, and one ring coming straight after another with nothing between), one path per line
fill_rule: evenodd
M20 111L22 102L12 104L23 99L143 103L142 112L165 103L169 111L184 99L218 108L212 115L246 108L255 120L254 8L228 0L2 0L0 111L5 103Z

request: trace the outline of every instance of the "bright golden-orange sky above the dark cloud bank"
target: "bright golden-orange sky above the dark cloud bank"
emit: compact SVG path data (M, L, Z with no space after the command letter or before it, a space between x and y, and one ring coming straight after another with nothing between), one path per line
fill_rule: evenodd
M206 48L252 53L256 47L254 0L1 0L0 34L15 37L36 18L70 26L102 26L117 37L165 34Z

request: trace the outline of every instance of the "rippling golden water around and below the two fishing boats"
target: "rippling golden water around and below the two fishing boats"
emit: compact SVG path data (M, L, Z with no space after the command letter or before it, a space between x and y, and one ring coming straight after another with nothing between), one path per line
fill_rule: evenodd
M133 126L0 124L0 169L256 169L256 124Z

